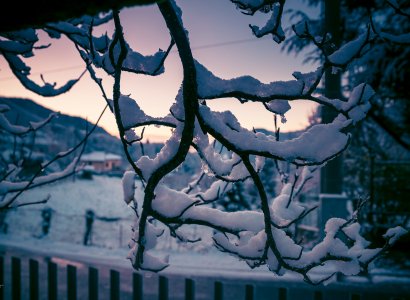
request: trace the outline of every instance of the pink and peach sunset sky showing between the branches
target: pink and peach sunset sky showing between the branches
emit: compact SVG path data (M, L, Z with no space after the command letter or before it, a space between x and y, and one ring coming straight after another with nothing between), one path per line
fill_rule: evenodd
M183 11L182 18L189 31L194 58L221 78L251 75L269 83L291 80L294 71L310 72L318 67L303 65L304 53L295 58L294 54L281 52L282 45L272 41L271 36L257 39L252 35L248 25L263 26L269 14L258 12L253 17L245 16L228 0L177 0L177 4ZM302 0L292 1L285 6L286 9L301 9L310 17L317 17L320 11L320 8L308 7ZM284 17L284 28L291 25L287 21L288 16ZM123 9L120 19L126 41L133 50L152 55L158 48L167 49L170 35L156 5ZM111 37L113 28L113 21L110 21L96 27L94 35L99 36L107 31ZM43 31L37 32L40 42L36 46L48 43L52 46L35 50L34 57L25 59L31 67L30 78L41 83L42 73L46 81L57 82L57 86L77 78L85 65L74 45L67 38L50 39ZM113 79L102 71L97 76L103 79L106 93L112 98ZM165 62L165 73L162 75L150 77L123 72L121 92L131 94L147 114L160 117L168 114L181 82L182 65L175 47ZM97 120L105 106L100 89L88 73L68 93L45 98L26 90L14 77L3 57L0 57L0 96L29 98L65 114L88 117L91 122ZM207 104L217 111L231 110L246 128L273 129L272 114L260 103L241 105L236 99L219 99L207 101ZM290 105L292 109L286 114L288 122L280 126L282 132L306 127L307 116L316 107L315 103L308 101L293 101ZM118 135L114 117L109 111L100 125L109 133ZM169 135L169 128L152 126L146 129L145 137L150 141L164 141Z

